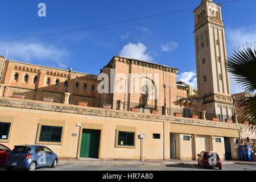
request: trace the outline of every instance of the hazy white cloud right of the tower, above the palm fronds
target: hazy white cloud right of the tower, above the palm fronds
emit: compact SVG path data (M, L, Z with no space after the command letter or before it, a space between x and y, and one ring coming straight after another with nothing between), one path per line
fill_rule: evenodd
M256 30L255 27L242 27L234 30L227 31L228 46L230 49L242 46L245 43L255 43L256 42Z

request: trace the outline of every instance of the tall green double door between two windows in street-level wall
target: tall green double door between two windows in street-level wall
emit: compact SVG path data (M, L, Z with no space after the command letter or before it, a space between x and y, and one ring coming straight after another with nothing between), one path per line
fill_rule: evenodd
M80 158L98 158L100 130L82 130Z

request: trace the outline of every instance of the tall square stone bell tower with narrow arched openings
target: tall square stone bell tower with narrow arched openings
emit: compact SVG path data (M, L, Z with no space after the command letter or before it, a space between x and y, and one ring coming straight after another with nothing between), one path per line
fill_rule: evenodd
M226 40L221 5L202 0L195 13L198 96L207 113L233 115L233 100L225 70Z

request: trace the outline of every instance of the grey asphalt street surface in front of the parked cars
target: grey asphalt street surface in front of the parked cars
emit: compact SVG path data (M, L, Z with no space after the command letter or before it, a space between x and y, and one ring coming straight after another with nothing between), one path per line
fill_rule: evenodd
M202 169L197 164L160 164L160 165L81 165L57 164L56 168L44 167L36 171L219 171L218 168ZM0 171L5 171L0 167ZM255 165L223 164L222 171L256 171Z

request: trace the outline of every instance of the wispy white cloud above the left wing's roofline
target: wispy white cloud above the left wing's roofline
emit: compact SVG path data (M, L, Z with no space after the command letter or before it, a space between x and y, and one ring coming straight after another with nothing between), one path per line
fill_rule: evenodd
M67 68L63 60L69 56L68 51L55 46L48 46L43 43L13 42L1 45L0 54L5 55L7 50L9 50L7 60L34 64L56 64L59 68Z

